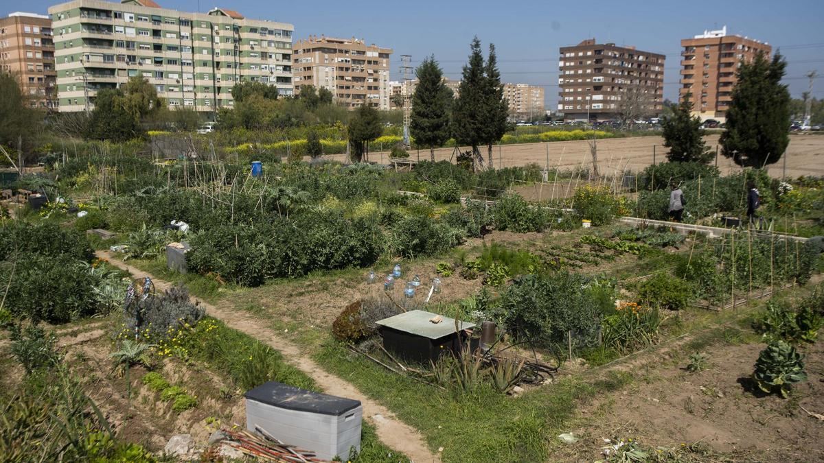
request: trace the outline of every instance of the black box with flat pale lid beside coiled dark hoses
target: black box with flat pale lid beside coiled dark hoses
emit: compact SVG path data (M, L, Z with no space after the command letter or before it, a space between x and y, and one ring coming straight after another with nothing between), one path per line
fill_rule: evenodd
M412 362L434 362L447 349L457 355L475 324L458 320L456 325L448 316L433 323L435 317L438 314L428 311L408 311L378 320L383 347Z

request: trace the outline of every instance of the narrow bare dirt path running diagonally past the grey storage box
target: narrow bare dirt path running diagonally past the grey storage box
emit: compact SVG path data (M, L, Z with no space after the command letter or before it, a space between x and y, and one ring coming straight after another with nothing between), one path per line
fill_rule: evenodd
M143 270L117 260L115 255L112 255L108 251L99 250L96 251L96 255L101 259L108 260L110 264L115 265L119 269L126 270L135 278L152 278L152 282L154 282L155 288L158 291L166 290L172 286L171 283L157 279L152 274L147 274L143 272ZM372 421L377 428L377 436L380 437L381 441L387 446L396 451L402 451L406 456L409 456L412 461L440 461L438 456L428 451L426 442L424 442L424 439L417 430L396 419L395 415L392 414L389 409L386 409L386 407L377 404L374 400L363 395L362 392L358 391L358 389L349 382L325 372L323 368L309 357L306 348L282 339L274 330L270 330L263 325L260 320L255 319L255 316L246 315L240 311L227 310L221 306L213 306L207 302L199 301L194 297L192 297L192 300L199 302L200 305L206 309L209 316L213 316L227 326L249 334L253 338L259 339L261 342L277 349L288 362L291 362L302 372L311 376L311 378L323 388L325 393L360 400L363 405L363 415Z

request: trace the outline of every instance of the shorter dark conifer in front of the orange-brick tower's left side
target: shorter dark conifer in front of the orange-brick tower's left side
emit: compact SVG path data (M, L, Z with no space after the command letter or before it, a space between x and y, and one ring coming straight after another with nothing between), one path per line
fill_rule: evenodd
M704 143L701 119L692 115L690 96L691 94L686 94L684 100L672 108L672 112L664 116L661 123L664 146L670 148L667 160L707 163L712 159L712 154Z

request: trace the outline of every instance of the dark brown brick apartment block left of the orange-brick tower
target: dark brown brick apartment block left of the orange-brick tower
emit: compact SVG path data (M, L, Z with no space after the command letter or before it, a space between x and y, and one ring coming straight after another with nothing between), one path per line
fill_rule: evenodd
M595 39L561 47L558 110L578 121L657 115L663 110L664 59Z

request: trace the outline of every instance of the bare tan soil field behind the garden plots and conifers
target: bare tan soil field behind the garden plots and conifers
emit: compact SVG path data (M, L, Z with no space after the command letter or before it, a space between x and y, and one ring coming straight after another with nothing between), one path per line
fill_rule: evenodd
M713 150L719 143L719 134L705 137L706 143ZM501 145L494 147L494 165L496 167L524 166L535 162L541 166L546 164L546 147L550 148L550 167L560 170L573 169L577 166L592 166L592 155L589 143L586 140L552 143L522 143ZM639 171L653 163L653 147L655 147L655 161L666 159L667 148L663 147L662 137L628 137L607 138L598 140L598 165L602 174L612 175L615 171L629 169ZM466 151L466 147L461 150ZM720 147L719 147L720 150ZM454 148L439 148L435 150L437 161L449 160ZM481 149L487 156L486 149ZM824 136L812 134L791 134L789 147L784 153L787 157L786 175L798 177L800 175L824 175ZM329 156L330 159L344 161L345 155ZM410 152L413 161L427 160L428 150ZM386 162L389 152L371 152L370 161ZM723 175L740 170L733 161L719 154L719 169ZM783 163L778 162L768 166L771 175L780 176Z

